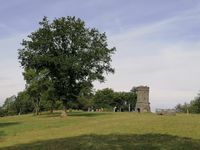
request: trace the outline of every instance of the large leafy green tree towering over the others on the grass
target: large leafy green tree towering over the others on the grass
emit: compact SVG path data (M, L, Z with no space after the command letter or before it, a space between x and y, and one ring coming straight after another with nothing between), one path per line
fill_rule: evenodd
M23 40L19 59L25 69L48 70L56 94L63 101L76 100L81 90L92 87L94 80L103 82L105 73L114 73L111 56L115 48L108 48L105 33L87 28L75 17L54 19L47 17L40 28Z

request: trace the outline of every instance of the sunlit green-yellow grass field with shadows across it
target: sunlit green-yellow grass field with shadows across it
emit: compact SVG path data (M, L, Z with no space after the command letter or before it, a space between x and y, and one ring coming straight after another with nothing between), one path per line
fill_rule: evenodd
M0 118L0 149L200 149L200 116L69 113Z

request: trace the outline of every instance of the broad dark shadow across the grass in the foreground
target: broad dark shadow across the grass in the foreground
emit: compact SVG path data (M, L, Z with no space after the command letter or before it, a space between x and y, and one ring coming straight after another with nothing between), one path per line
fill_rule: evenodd
M167 134L83 135L38 141L1 150L199 150L200 140Z

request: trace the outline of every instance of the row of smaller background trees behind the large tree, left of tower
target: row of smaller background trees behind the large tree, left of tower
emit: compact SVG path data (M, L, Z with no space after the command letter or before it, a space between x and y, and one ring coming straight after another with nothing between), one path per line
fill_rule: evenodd
M52 92L52 91L51 91ZM48 90L41 93L39 101L35 100L32 91L25 90L19 92L17 96L6 98L2 107L0 107L0 116L20 115L34 113L38 115L41 111L60 110L63 103L60 100L53 99L53 93ZM83 111L133 111L136 104L136 93L115 92L110 88L97 90L96 92L87 92L81 94L76 100L69 101L67 109L76 109Z

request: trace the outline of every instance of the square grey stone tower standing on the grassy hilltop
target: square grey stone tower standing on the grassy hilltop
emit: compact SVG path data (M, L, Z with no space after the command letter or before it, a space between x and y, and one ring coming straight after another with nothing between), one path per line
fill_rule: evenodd
M149 103L149 87L138 86L136 87L137 102L135 110L137 112L150 112Z

